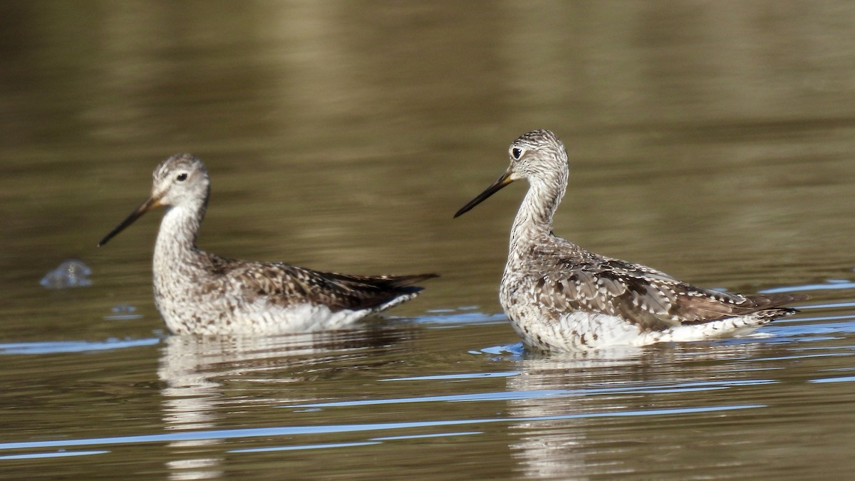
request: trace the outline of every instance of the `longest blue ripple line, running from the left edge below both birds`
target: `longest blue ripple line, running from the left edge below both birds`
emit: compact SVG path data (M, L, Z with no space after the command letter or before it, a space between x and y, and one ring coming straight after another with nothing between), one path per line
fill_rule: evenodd
M647 411L625 411L621 413L580 413L556 416L532 416L525 418L455 419L445 421L413 421L404 423L379 423L370 425L289 426L278 428L248 428L234 430L186 431L143 436L93 437L89 439L63 439L57 441L3 442L0 449L61 448L65 446L91 446L104 444L131 444L144 442L199 441L209 439L238 439L260 436L297 436L304 434L331 434L341 432L387 431L440 426L478 425L491 423L525 423L534 421L557 421L563 419L626 418L634 416L667 416L670 414L716 413L737 409L765 407L764 404L744 404L713 407L678 407L651 409Z

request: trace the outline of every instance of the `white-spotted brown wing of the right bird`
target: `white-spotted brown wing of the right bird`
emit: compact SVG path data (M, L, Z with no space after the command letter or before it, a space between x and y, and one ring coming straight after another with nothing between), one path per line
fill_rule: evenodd
M696 288L619 259L567 259L563 264L560 276L540 279L540 301L545 306L558 312L618 316L647 330L744 316L806 299L799 294L745 296Z

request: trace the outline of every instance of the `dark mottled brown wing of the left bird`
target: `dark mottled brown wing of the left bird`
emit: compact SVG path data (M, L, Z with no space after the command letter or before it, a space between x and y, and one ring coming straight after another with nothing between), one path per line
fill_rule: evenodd
M225 269L233 269L233 278L243 288L246 299L264 297L280 306L310 302L341 309L368 309L379 306L402 294L421 291L415 282L436 277L435 274L415 276L348 276L305 269L279 263L231 264L223 260Z

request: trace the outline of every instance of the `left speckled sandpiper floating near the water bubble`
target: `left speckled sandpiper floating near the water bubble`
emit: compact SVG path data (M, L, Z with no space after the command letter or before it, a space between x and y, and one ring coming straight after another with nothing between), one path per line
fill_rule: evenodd
M154 298L177 335L268 336L342 329L411 300L436 274L349 276L279 262L221 258L196 245L208 207L204 163L175 154L158 164L148 199L98 242L165 206L152 261Z

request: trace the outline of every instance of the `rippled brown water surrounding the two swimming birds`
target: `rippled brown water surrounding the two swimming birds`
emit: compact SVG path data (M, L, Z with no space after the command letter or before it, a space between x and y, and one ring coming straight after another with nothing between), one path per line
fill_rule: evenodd
M853 24L845 1L3 3L0 477L849 475ZM497 287L525 186L451 215L532 128L569 148L557 234L812 300L736 340L522 353ZM95 243L175 151L212 175L205 249L442 277L353 332L168 336L158 216ZM42 288L67 258L92 285Z

